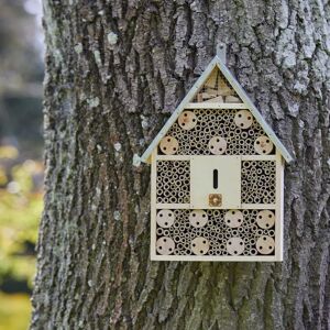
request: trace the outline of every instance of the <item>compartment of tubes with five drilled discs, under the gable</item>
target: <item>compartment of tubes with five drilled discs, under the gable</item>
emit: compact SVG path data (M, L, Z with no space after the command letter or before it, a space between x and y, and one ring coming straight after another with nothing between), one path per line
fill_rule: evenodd
M170 148L176 141L176 150ZM164 150L164 146L166 150ZM272 155L275 147L249 110L185 110L161 140L162 155Z

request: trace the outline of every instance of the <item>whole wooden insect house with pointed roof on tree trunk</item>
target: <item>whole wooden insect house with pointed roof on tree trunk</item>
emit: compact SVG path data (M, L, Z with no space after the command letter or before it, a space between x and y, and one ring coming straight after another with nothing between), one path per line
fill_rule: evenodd
M282 261L292 156L217 55L142 155L151 258Z

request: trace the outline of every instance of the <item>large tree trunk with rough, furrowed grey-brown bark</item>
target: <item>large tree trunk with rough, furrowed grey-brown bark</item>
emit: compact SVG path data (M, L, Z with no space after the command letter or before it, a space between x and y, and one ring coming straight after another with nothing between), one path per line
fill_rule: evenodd
M329 329L326 0L44 0L45 210L32 329ZM283 263L150 262L138 155L216 45L296 156ZM134 160L134 161L133 161Z

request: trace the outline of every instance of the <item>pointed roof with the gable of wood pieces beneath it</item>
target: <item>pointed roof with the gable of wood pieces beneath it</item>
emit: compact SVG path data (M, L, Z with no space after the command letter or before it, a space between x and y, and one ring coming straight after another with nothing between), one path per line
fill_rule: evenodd
M212 92L213 89L213 92ZM208 94L208 95L206 95ZM265 122L258 110L255 108L249 96L240 86L238 80L232 76L227 66L221 62L218 56L210 62L201 76L197 79L194 86L190 88L186 97L182 100L176 110L172 113L165 125L160 133L146 148L141 156L141 161L151 163L151 154L155 147L157 147L161 140L166 135L173 123L177 120L179 114L184 111L185 107L190 102L243 102L245 108L249 109L254 116L255 120L264 129L268 138L274 145L278 148L282 156L287 163L293 162L292 155L285 148L283 143L278 140L272 128Z

